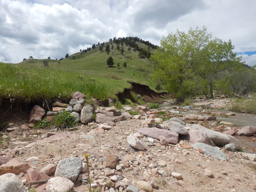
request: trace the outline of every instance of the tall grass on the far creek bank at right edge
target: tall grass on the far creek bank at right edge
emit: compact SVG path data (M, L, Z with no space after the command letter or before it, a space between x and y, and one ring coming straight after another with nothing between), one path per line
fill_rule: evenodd
M230 111L239 113L255 113L256 114L256 95L251 99L235 99L234 102L228 105Z

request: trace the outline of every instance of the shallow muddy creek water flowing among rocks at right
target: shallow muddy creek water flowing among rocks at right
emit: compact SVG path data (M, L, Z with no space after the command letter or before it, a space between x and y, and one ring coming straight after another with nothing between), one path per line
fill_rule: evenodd
M201 116L210 116L214 113L219 114L227 114L231 111L228 110L209 110L212 112L212 114L204 114L204 113L198 113L202 108L192 108L192 109L172 109L171 104L169 103L163 103L160 104L160 109L167 109L172 113L175 114L195 114L195 115L201 115ZM256 127L256 114L247 114L247 113L236 113L235 116L229 116L229 117L221 117L216 115L216 121L227 121L230 123L233 123L232 127L244 127L244 126L254 126ZM235 135L236 139L239 140L243 150L246 153L256 153L256 141L253 140L255 137L247 137L247 136L239 136Z

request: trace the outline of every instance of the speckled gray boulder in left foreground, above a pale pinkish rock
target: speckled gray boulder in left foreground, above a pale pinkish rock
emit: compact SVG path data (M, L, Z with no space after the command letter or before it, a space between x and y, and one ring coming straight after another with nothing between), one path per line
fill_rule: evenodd
M71 181L76 181L82 170L82 160L78 157L61 159L56 167L55 177L64 177Z

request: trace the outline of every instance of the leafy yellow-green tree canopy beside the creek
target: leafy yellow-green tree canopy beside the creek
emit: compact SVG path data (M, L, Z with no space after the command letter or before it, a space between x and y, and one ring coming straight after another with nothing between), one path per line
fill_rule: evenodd
M179 31L163 36L151 61L156 65L151 77L182 102L196 93L209 94L223 77L241 66L231 41L212 39L206 27L188 33Z

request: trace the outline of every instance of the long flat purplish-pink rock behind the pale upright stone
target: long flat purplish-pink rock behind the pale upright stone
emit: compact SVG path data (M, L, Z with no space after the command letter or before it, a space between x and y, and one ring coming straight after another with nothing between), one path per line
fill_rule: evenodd
M151 128L142 127L139 129L138 132L145 136L152 137L153 139L157 139L157 140L160 140L159 136L162 135L168 140L169 143L171 143L171 144L178 143L179 134L174 131L158 129L155 127L151 127Z

